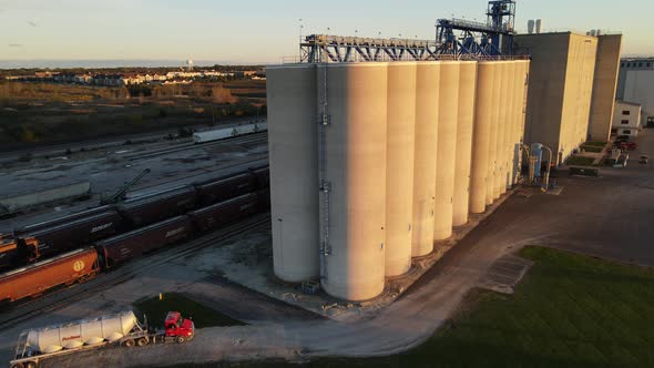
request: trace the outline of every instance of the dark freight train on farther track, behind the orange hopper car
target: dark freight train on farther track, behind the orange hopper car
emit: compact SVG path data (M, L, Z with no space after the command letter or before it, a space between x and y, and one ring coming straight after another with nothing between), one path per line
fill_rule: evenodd
M22 266L91 245L116 234L206 207L247 193L267 191L268 166L251 167L217 180L183 185L119 205L105 205L0 235L0 269Z

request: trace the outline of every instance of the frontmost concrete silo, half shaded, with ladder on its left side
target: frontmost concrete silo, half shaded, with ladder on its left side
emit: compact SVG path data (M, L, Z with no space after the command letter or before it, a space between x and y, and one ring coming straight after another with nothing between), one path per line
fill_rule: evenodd
M329 217L321 286L347 300L376 297L385 287L387 69L376 62L318 65L330 122L324 146L329 196L320 202Z

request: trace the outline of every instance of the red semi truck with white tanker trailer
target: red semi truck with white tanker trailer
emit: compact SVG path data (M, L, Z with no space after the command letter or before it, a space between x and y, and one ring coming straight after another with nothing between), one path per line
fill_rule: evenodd
M20 334L11 368L35 368L40 360L95 349L108 345L146 346L150 343L184 343L195 337L193 320L178 311L168 311L164 330L147 328L132 310L99 318L75 320L54 326L28 329Z

